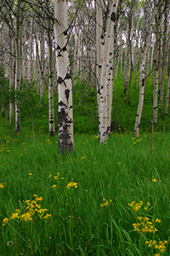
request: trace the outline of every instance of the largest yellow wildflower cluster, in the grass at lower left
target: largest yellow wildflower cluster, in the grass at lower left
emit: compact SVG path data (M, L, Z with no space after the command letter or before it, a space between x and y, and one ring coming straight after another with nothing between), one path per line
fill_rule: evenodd
M21 221L30 221L34 215L37 215L39 218L49 218L52 214L45 214L48 209L42 209L42 207L37 204L37 201L42 201L42 197L38 197L37 195L33 195L35 200L30 201L27 200L26 203L26 212L21 212L20 208L15 209L14 212L11 214L10 220L20 219ZM3 219L3 226L8 223L8 218Z

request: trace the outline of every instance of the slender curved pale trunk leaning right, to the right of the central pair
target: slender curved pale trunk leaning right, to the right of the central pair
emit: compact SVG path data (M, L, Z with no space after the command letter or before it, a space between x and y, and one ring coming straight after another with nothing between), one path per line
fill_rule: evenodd
M142 51L141 55L141 62L140 62L140 67L139 67L139 105L138 105L138 110L137 110L137 115L136 115L136 121L134 125L134 136L139 137L139 127L140 127L140 119L142 116L142 110L144 106L144 85L145 85L145 63L146 63L146 58L147 58L147 53L148 53L148 47L150 44L150 33L152 31L153 23L155 20L155 15L156 15L156 9L153 10L153 13L150 17L150 21L148 24L148 31L146 33L146 38L144 42L144 48Z

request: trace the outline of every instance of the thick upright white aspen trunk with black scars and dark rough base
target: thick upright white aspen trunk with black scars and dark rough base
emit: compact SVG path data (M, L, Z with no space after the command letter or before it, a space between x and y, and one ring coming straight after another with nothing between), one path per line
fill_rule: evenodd
M66 0L54 2L54 38L56 47L56 68L59 92L59 150L65 154L74 149L73 107L71 67L69 63L67 37L67 3Z

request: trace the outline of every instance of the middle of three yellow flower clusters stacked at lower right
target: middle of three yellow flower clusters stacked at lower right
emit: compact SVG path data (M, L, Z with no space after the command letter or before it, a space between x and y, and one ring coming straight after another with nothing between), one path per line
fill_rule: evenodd
M139 231L140 233L155 233L157 230L154 228L153 222L147 217L138 217L139 222L133 224L134 231Z

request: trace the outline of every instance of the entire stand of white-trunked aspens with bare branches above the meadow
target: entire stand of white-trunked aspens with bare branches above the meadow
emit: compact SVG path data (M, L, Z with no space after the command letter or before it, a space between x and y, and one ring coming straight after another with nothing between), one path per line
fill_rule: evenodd
M19 95L23 92L23 81L27 81L27 88L37 91L40 119L48 93L48 133L56 134L57 123L59 150L65 154L74 149L73 94L79 94L81 108L82 91L86 96L93 90L97 102L95 115L88 103L87 106L93 122L99 121L100 143L105 143L113 124L121 128L120 121L113 117L114 84L119 73L124 79L122 91L129 106L133 104L133 88L139 87L136 117L131 121L135 137L139 137L145 84L150 78L153 125L159 124L159 111L164 112L167 120L169 9L168 0L2 1L0 66L7 85L1 84L1 106L3 115L8 114L9 125L15 125L16 132L22 131L24 100ZM3 93L5 86L8 96ZM36 112L37 109L31 111Z

